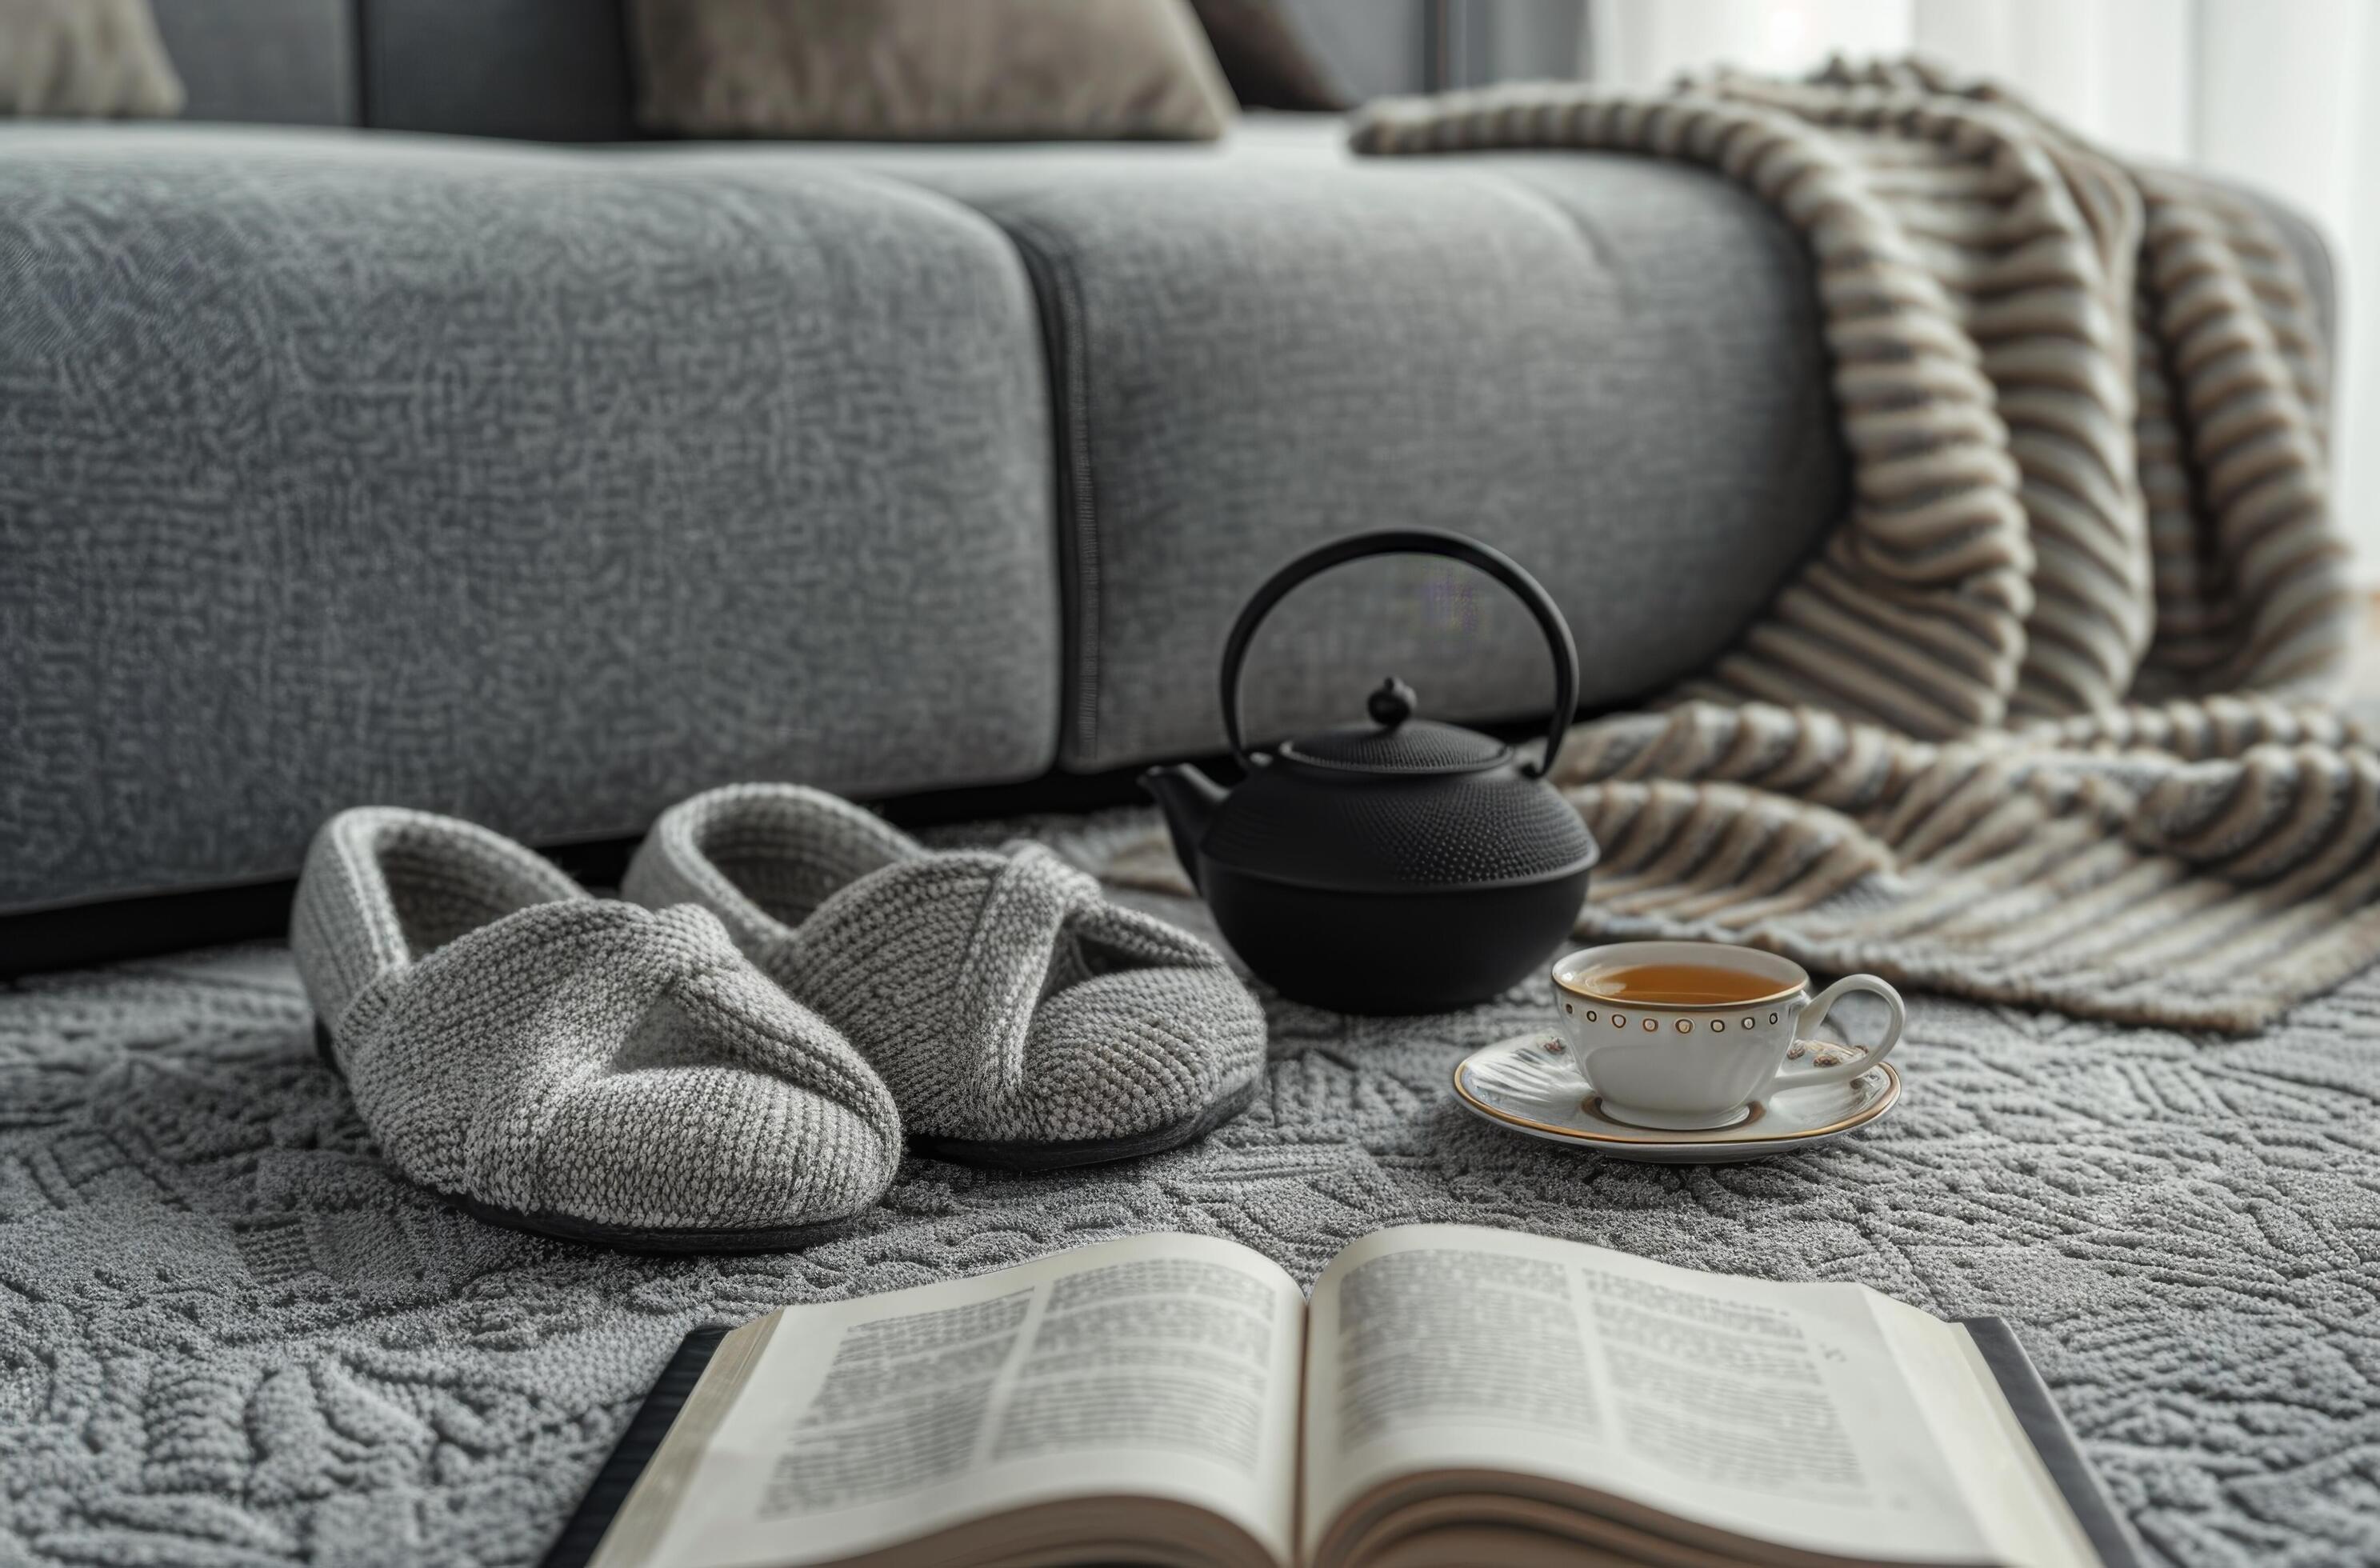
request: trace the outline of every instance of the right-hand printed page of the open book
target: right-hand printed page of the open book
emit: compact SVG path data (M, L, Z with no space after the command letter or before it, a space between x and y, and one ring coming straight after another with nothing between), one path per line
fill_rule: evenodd
M1468 1468L1804 1551L2030 1561L1968 1506L1875 1302L1468 1225L1368 1235L1314 1287L1304 1549L1385 1480Z

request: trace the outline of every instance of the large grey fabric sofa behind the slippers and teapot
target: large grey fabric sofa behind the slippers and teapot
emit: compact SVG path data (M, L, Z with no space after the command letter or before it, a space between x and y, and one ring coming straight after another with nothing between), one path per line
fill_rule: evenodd
M1081 797L1216 752L1233 611L1366 526L1509 550L1623 704L1844 504L1804 257L1709 174L459 136L624 136L605 12L159 0L193 114L328 124L0 126L0 961L271 890L357 802L569 845L733 778ZM1523 721L1542 661L1371 564L1252 716L1397 671Z

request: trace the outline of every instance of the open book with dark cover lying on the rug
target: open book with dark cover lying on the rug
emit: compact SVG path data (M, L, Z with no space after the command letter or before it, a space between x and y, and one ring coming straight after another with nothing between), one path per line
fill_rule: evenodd
M1311 1304L1245 1247L1145 1235L702 1330L547 1561L2128 1556L1994 1318L1409 1225Z

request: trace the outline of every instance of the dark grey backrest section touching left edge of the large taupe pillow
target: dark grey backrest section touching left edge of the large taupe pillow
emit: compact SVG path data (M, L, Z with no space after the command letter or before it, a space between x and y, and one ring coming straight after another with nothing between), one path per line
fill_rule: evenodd
M635 136L619 0L357 0L364 124L388 131Z

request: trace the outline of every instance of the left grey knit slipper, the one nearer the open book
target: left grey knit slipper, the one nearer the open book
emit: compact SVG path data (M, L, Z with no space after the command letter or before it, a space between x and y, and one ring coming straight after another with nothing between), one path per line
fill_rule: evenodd
M847 1225L900 1164L883 1080L714 916L600 902L486 828L340 811L290 947L388 1161L500 1225L774 1252Z

